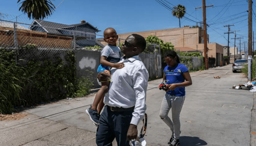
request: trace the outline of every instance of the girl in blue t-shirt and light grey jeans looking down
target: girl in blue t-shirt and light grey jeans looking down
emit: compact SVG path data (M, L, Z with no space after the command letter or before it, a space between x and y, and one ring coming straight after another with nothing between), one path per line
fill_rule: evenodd
M180 58L174 50L165 52L163 82L167 80L169 88L160 109L160 118L170 127L172 136L170 146L180 145L180 111L185 100L185 87L192 85L192 80L187 67L180 64ZM169 118L169 110L172 109L172 120Z

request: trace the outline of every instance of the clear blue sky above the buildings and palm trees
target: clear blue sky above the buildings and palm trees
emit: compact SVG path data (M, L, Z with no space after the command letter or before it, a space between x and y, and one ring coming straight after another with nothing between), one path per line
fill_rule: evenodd
M57 7L63 0L55 0L52 3ZM116 29L117 33L129 33L147 30L160 30L179 27L179 19L172 16L169 9L158 2L165 3L169 7L173 5L184 5L186 7L186 18L181 19L181 27L185 25L194 26L196 22L202 21L202 9L195 9L202 6L201 0L64 0L58 8L45 21L51 21L63 24L76 24L81 20L89 22L97 27L103 34L108 27ZM19 11L20 5L17 0L0 0L0 12L8 14L4 19L18 21L22 23L31 23L27 15ZM209 41L227 45L228 34L230 30L240 30L236 32L236 37L244 37L243 41L248 40L248 2L246 0L206 0L206 5L214 5L206 8L207 33ZM256 4L252 6L256 12ZM253 31L256 24L256 14L253 12ZM256 37L256 31L255 31ZM234 34L229 35L229 45L234 46ZM256 40L256 39L255 39ZM239 47L239 40L236 40L236 46ZM247 43L246 43L247 46ZM241 45L244 50L244 44Z

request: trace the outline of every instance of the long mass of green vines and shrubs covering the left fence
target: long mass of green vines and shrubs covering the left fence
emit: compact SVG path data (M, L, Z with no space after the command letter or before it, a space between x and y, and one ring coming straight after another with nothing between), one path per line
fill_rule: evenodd
M26 53L36 45L20 46ZM64 65L60 57L54 61L30 58L24 65L15 61L16 52L0 49L0 112L10 114L14 107L33 105L50 98L85 96L93 85L88 77L76 77L73 51L66 52ZM23 60L24 61L24 60Z

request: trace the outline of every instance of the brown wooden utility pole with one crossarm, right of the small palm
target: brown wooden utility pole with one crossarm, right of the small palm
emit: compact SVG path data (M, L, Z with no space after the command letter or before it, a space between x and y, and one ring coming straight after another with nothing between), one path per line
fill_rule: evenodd
M200 9L203 8L203 23L204 23L204 62L205 62L205 69L208 69L208 49L207 49L207 30L206 30L206 7L212 7L213 5L205 6L205 0L203 1L203 6L196 8Z

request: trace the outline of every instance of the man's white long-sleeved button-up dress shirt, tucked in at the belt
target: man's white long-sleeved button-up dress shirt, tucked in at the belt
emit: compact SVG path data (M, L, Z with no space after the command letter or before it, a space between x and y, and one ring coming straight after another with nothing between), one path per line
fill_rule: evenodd
M128 59L121 57L118 63L121 62L124 63L124 68L111 69L111 82L104 103L123 108L135 106L130 123L138 125L145 115L149 74L138 55Z

